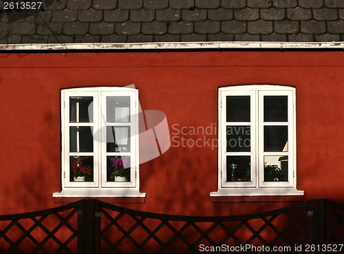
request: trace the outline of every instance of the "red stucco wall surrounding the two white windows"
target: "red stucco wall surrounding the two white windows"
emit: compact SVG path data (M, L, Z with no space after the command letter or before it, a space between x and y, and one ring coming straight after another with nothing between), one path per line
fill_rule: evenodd
M297 89L297 189L304 200L344 202L343 52L102 52L0 54L0 214L59 205L60 90L135 84L143 109L166 114L172 126L213 127L217 88L239 84ZM179 125L175 125L179 124ZM181 134L179 134L181 137ZM120 204L158 213L235 215L291 202L212 203L217 149L172 147L140 165L144 203Z

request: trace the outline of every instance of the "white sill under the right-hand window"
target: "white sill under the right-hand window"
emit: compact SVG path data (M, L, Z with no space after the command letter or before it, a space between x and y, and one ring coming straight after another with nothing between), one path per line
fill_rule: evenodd
M237 196L283 196L298 195L303 196L304 191L298 191L295 188L226 188L211 192L211 197L237 197Z

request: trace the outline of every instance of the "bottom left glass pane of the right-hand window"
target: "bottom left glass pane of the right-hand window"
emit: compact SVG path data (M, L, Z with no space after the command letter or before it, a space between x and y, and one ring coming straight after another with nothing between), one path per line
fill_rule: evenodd
M226 182L250 182L250 156L227 156Z

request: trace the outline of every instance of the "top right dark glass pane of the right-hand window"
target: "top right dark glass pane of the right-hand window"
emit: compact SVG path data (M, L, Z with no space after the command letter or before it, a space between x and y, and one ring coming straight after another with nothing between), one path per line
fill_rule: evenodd
M264 122L288 122L288 96L264 96Z

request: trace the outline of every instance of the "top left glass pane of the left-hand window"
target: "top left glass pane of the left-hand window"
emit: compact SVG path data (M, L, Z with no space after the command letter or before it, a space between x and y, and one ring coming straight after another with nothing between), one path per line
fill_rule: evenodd
M69 122L93 123L93 97L69 98Z

